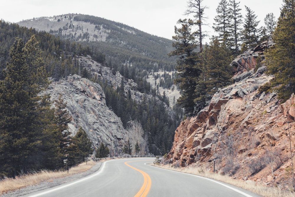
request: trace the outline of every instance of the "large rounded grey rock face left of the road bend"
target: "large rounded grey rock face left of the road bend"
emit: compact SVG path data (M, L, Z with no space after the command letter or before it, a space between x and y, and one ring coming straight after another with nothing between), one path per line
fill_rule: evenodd
M73 75L53 82L45 93L51 95L52 101L58 100L61 95L67 103L72 117L68 126L73 135L82 127L95 148L103 142L109 147L111 156L122 153L125 141L131 136L123 128L120 118L106 106L105 95L99 84Z

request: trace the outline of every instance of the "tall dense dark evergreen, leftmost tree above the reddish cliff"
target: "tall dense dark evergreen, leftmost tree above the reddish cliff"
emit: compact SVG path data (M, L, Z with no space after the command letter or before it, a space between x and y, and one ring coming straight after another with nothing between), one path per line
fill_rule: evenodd
M201 69L199 68L200 57L196 52L197 41L195 36L197 32L191 32L191 27L194 22L190 19L178 20L181 28L175 27L175 36L173 36L173 47L175 51L169 53L169 56L177 56L176 70L178 78L174 80L179 84L182 90L181 97L177 102L185 109L185 113L192 115L194 111L195 88L200 76Z

